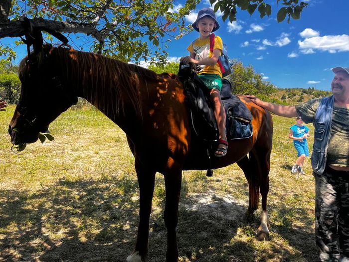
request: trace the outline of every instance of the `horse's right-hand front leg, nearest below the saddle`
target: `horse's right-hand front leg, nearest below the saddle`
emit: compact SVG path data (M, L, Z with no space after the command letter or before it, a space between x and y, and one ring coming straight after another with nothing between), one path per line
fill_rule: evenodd
M181 170L165 175L166 205L165 225L167 228L167 253L166 262L178 261L177 239L175 228L178 222L178 202L180 195L182 174Z

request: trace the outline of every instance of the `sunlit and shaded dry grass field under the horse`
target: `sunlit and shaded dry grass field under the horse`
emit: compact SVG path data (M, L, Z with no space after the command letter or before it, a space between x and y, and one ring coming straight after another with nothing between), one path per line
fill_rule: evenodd
M50 125L55 141L14 154L7 133L13 110L0 112L0 262L124 262L136 239L139 191L123 131L92 107L70 109ZM291 174L296 152L288 131L294 120L273 120L271 240L254 237L260 209L252 223L243 219L247 182L236 164L215 170L212 178L185 171L180 262L318 261L310 160L305 175ZM165 261L164 196L157 174L149 262Z

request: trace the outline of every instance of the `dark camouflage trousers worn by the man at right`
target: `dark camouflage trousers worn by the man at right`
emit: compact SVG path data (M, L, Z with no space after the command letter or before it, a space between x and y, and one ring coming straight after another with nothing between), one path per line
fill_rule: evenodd
M315 177L315 238L322 262L349 262L349 172Z

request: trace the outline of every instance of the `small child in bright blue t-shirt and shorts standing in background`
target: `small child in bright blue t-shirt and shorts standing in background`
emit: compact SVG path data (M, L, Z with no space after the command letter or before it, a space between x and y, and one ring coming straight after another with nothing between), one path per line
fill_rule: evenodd
M290 133L288 137L293 139L293 145L297 150L298 159L296 164L292 167L291 172L296 173L299 172L302 175L303 171L303 163L306 157L309 157L309 149L307 138L309 137L309 128L304 125L304 122L300 116L296 117L296 124L291 126Z

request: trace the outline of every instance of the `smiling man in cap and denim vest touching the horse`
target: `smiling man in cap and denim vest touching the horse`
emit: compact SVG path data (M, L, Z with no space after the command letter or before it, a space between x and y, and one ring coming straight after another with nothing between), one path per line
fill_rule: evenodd
M332 69L333 95L297 106L246 96L285 117L302 117L315 127L312 168L315 177L315 234L322 262L349 262L349 67Z

